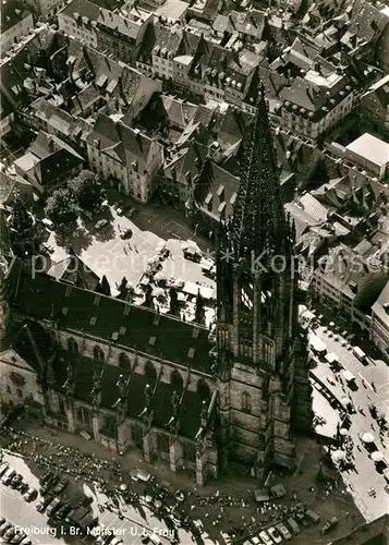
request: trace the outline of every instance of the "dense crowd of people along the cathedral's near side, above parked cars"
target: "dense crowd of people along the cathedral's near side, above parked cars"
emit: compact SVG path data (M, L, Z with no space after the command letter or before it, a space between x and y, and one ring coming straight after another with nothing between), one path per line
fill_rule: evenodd
M99 505L100 512L109 509L117 512L119 518L125 518L123 502L118 500L121 497L135 509L147 508L160 520L165 520L167 514L171 520L173 516L180 528L191 533L194 540L199 538L200 534L194 519L203 520L210 533L212 529L215 533L229 529L236 535L247 530L256 531L266 523L277 523L289 517L303 517L307 509L307 505L301 501L295 493L288 498L288 505L282 505L271 499L256 504L253 493L239 497L222 494L220 491L208 495L195 489L187 493L172 491L155 477L147 482L134 480L131 474L133 472L124 471L116 460L101 459L13 427L2 429L1 433L1 444L7 449L31 460L40 470L60 470L71 475L73 481L81 480L94 484L95 488L109 498Z

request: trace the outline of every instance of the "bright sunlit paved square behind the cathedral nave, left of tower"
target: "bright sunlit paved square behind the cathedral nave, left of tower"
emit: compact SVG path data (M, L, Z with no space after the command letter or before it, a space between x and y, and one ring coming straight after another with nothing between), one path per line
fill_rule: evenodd
M163 274L168 279L173 277L184 281L191 280L214 289L215 282L204 277L200 265L183 256L182 247L185 242L190 239L198 243L199 239L193 234L191 237L190 229L185 227L172 232L167 226L175 225L175 220L169 219L162 213L159 216L158 210L157 215L155 214L155 209L141 210L133 220L130 220L125 216L119 216L113 207L109 207L90 223L82 225L81 220L78 221L80 229L72 239L72 247L100 278L106 275L112 295L117 295L117 288L124 276L131 286L138 284L148 264L156 257L158 247L165 242L170 250L170 256L163 262ZM109 225L96 231L93 226L101 218L109 219ZM132 231L131 239L122 240L120 234L129 229ZM165 239L155 232L163 233ZM181 239L174 239L173 235ZM61 239L51 232L46 243L53 250L50 258L54 263L61 262L69 255L69 247L61 242ZM207 250L202 246L204 251Z

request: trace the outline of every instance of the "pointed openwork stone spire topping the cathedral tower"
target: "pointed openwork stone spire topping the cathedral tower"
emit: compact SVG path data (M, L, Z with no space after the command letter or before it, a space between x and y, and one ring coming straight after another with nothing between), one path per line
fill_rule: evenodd
M282 251L288 237L263 85L246 138L230 232L238 258L247 257L252 252L259 255L263 251Z

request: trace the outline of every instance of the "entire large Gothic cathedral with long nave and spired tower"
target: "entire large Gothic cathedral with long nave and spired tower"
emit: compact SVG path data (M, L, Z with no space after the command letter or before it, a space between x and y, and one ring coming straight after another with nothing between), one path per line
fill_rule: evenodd
M120 456L138 449L198 485L239 468L262 481L293 470L312 391L263 89L245 142L233 215L218 228L216 330L12 259L0 267L2 405Z

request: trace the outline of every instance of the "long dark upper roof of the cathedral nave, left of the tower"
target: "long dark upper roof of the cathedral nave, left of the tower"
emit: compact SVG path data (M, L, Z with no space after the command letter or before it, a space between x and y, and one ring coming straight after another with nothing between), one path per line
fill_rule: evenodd
M198 328L198 337L194 339L193 325L186 322L160 315L157 325L154 311L69 287L48 275L37 274L33 278L19 261L13 263L5 282L9 304L19 313L37 319L53 316L59 327L83 331L106 342L112 339L112 334L124 330L118 344L210 374L212 344L206 328ZM96 317L93 325L92 317ZM153 336L156 342L150 347ZM193 359L189 356L191 348L195 349Z

